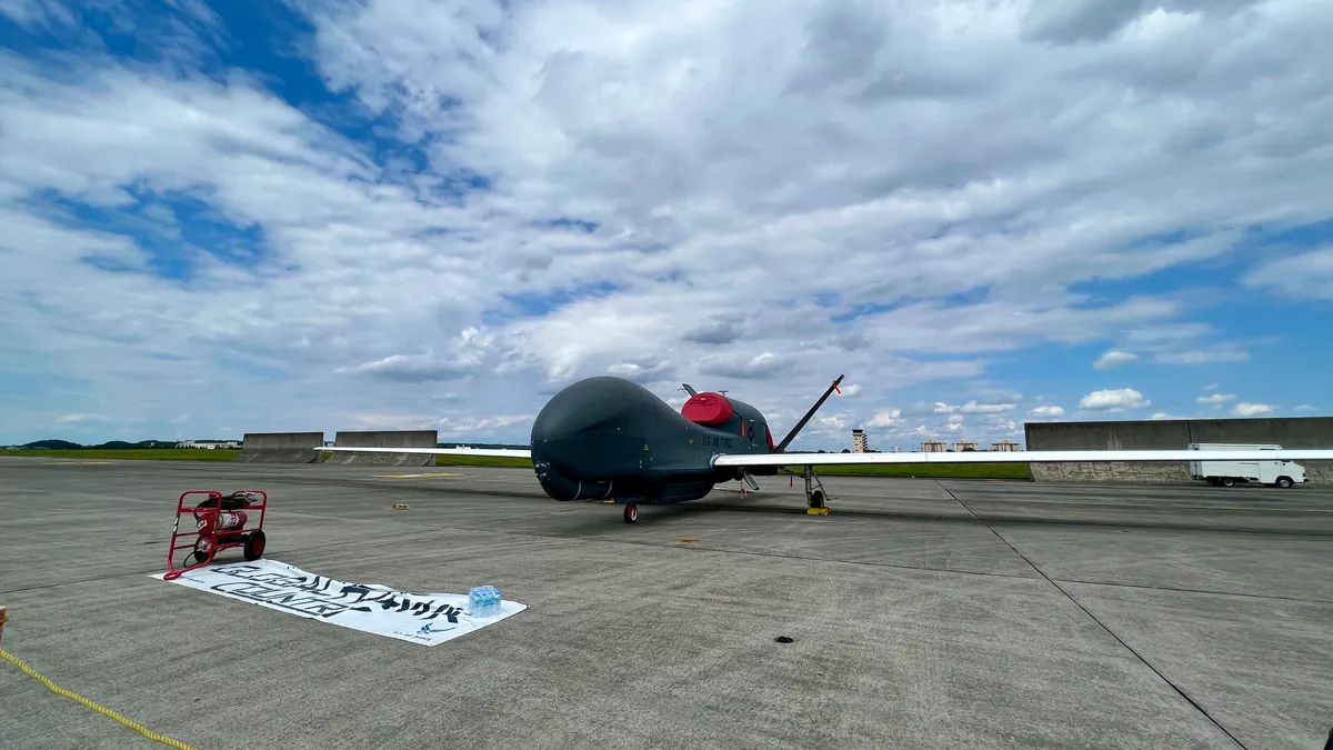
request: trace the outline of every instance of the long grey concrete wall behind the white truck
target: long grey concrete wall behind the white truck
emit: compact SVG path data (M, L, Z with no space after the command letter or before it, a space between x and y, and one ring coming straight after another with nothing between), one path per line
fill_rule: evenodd
M1024 424L1028 450L1185 450L1190 443L1264 443L1333 448L1333 418L1164 419L1154 422L1034 422ZM1333 483L1333 462L1301 462L1312 484ZM1186 462L1033 463L1037 482L1188 483Z

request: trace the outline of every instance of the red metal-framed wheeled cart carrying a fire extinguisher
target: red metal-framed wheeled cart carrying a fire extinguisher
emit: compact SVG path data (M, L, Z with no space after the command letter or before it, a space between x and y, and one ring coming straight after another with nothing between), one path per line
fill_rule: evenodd
M208 495L196 506L187 506L185 498ZM257 511L257 515L256 515ZM188 490L176 500L176 526L171 534L171 548L167 550L167 581L180 578L183 573L213 562L219 550L244 547L247 560L264 556L264 515L268 511L268 495L263 490L237 490L224 495L217 490ZM195 530L181 531L180 516L193 514ZM255 522L257 518L257 523ZM249 526L247 526L249 524ZM189 538L193 538L191 542ZM176 552L193 550L185 556L183 567L176 567Z

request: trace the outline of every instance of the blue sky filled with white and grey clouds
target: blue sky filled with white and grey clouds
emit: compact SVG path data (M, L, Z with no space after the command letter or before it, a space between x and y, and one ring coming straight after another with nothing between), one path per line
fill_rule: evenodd
M615 374L797 447L1333 408L1326 0L0 0L0 443Z

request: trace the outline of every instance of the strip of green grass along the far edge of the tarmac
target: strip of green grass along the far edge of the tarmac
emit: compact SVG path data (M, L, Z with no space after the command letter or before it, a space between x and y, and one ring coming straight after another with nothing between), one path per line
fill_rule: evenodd
M240 451L199 450L199 448L145 448L145 450L73 450L73 451L24 451L3 450L0 456L89 459L89 460L235 460ZM324 460L329 454L324 454ZM531 468L525 458L493 456L452 456L435 458L436 466L496 466L511 468ZM793 466L800 472L801 467ZM1026 463L894 463L884 466L822 466L821 476L920 476L929 479L1028 479Z

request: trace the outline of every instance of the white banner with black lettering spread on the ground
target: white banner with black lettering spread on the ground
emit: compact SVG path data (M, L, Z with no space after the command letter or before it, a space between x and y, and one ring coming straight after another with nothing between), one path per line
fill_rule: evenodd
M165 581L164 575L149 578ZM215 563L169 583L424 646L452 641L528 609L505 599L499 614L472 617L467 594L407 594L380 585L344 583L271 559Z

